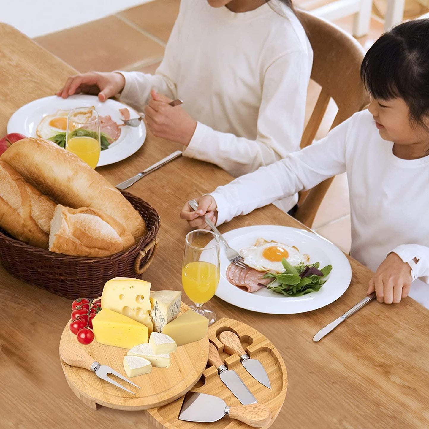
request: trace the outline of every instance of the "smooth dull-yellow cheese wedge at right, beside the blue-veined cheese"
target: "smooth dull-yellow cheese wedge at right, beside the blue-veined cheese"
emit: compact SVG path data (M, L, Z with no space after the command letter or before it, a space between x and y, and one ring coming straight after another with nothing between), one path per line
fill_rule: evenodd
M169 335L178 346L193 343L205 337L208 319L195 311L188 310L163 327L162 333Z

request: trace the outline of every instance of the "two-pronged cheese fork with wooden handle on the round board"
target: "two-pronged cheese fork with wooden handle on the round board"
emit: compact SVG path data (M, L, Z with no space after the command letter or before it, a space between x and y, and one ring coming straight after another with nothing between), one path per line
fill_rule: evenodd
M114 386L120 387L121 389L124 389L127 392L132 393L133 395L135 395L134 392L126 389L124 386L117 383L115 380L112 380L112 378L110 378L108 374L115 375L121 380L127 381L127 383L130 383L140 389L137 384L134 384L132 381L128 380L128 378L125 378L123 375L119 374L119 372L115 371L113 368L110 368L110 366L101 365L77 344L69 343L63 346L60 351L60 356L61 359L70 366L77 366L79 368L93 371L95 372L95 375L97 375L97 377L102 378L103 380L106 380Z

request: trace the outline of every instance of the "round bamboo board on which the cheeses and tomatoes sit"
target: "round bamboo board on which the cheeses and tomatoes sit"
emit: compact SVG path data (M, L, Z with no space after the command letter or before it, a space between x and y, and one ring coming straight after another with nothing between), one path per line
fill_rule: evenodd
M188 310L189 307L182 302L181 313ZM61 335L60 350L68 343L78 344L94 360L102 365L111 366L128 378L122 363L127 349L106 346L95 340L89 345L79 344L76 335L69 329L69 323ZM168 404L187 393L201 377L207 364L207 357L208 335L199 341L177 347L177 350L170 354L169 368L152 368L149 374L130 378L130 381L141 387L140 389L112 377L136 395L98 378L92 371L69 366L61 359L60 362L73 393L86 405L93 409L97 409L97 405L104 405L118 410L138 411Z

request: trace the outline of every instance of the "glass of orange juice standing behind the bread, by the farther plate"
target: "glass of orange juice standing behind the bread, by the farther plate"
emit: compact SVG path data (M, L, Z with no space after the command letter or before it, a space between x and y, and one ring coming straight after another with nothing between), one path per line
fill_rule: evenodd
M67 116L66 150L92 168L100 159L100 118L94 109L77 107Z

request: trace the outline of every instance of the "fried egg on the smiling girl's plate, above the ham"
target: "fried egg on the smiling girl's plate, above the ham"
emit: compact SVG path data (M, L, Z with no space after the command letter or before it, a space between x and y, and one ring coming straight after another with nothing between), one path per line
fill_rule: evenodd
M284 272L281 263L283 258L292 266L300 263L308 263L310 257L301 254L296 246L289 246L275 241L266 241L259 238L253 246L240 249L239 254L244 258L244 262L257 271L271 271L275 273Z

